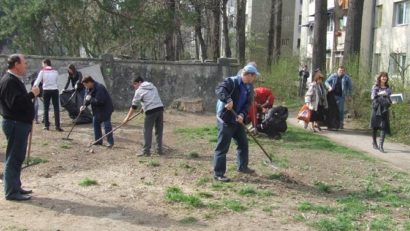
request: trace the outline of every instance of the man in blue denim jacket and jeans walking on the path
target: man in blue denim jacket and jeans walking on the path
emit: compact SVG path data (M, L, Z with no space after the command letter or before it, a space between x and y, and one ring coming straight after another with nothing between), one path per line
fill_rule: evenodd
M331 74L329 78L327 78L325 85L328 92L333 92L335 95L336 104L339 109L339 129L343 129L345 97L348 97L349 101L352 99L352 80L350 76L346 74L346 69L343 66L339 66L337 73Z

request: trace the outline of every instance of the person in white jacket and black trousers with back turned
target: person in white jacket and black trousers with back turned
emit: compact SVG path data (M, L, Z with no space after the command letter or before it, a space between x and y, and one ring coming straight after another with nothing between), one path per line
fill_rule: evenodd
M51 67L49 59L43 60L43 69L38 73L34 86L39 86L43 83L43 99L44 99L44 130L49 130L50 121L48 119L48 110L50 108L50 100L54 108L54 122L56 130L64 131L60 126L60 101L58 91L58 72Z

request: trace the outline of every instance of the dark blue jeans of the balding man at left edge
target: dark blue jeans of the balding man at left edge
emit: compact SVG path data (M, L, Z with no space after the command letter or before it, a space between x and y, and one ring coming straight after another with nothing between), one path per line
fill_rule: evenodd
M21 166L26 158L27 138L31 124L3 119L3 132L7 138L6 161L4 162L4 194L9 197L21 189Z

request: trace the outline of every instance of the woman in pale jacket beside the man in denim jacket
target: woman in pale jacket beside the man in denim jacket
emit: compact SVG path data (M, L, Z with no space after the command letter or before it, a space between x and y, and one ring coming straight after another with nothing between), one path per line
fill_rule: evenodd
M325 110L328 107L323 80L323 74L319 71L316 72L313 82L310 83L309 89L305 94L305 103L308 104L309 109L312 111L310 122L312 122L312 130L314 132L316 132L315 128L321 130L317 122L324 121Z

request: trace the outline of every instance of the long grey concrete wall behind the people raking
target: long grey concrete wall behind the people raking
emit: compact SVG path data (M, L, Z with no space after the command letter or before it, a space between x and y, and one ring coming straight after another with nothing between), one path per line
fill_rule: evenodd
M29 62L27 76L38 71L44 57L26 56ZM69 64L82 68L101 65L101 72L117 109L128 108L134 94L131 81L137 75L153 82L165 106L181 97L202 98L207 111L215 111L215 87L224 77L236 75L240 69L236 60L219 59L218 63L158 62L114 60L105 55L101 59L51 57L51 63L59 73L66 73ZM0 72L6 70L7 56L0 55L3 63Z

